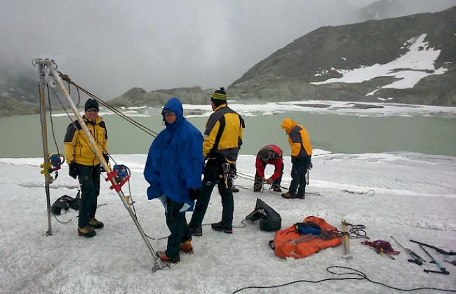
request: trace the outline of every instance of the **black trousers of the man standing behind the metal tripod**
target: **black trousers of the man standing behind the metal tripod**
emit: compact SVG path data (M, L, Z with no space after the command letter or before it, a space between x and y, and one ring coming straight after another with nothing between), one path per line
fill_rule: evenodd
M97 212L97 197L100 194L100 166L78 164L78 180L81 187L79 204L79 227L86 227L90 218Z

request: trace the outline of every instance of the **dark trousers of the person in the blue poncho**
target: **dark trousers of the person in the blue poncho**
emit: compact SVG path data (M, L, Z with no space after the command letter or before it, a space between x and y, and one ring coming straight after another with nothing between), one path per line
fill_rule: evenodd
M169 258L180 256L180 242L192 239L185 219L185 212L180 212L182 206L184 206L184 202L177 203L166 196L166 225L168 225L171 234L168 236L168 246L166 246L165 253Z

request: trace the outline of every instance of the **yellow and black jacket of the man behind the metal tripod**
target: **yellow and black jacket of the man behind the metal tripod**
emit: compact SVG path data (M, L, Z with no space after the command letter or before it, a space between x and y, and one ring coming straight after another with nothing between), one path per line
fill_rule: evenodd
M86 123L93 138L95 138L95 144L97 149L102 154L107 154L107 131L105 121L100 117L97 117L95 123L89 121L84 115L83 120ZM67 133L65 134L65 158L67 163L75 162L83 164L85 166L97 166L100 161L95 156L95 152L90 147L90 141L88 140L86 133L79 121L74 121L69 124Z

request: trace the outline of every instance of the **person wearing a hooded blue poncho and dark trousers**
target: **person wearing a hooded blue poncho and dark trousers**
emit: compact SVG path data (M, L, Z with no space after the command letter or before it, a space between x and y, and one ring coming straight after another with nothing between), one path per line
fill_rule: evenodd
M163 107L166 128L152 142L144 169L147 197L161 200L171 233L166 251L156 252L162 262L180 262L180 251L193 253L185 212L193 209L201 188L203 136L183 112L177 98Z

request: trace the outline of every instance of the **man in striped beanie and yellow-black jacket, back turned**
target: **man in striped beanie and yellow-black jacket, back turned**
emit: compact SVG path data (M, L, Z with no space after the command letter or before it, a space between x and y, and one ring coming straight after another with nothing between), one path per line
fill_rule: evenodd
M222 196L222 220L211 227L215 231L231 234L233 232L233 175L236 173L236 160L242 145L242 132L245 127L242 117L227 105L224 88L215 91L210 98L214 113L209 117L204 131L203 156L207 159L204 167L203 187L189 229L192 235L201 236L210 194L216 184Z

